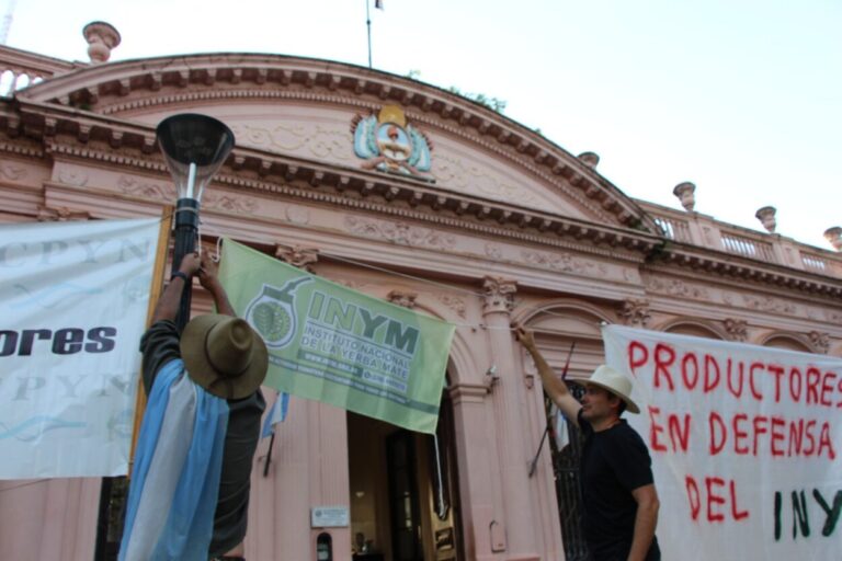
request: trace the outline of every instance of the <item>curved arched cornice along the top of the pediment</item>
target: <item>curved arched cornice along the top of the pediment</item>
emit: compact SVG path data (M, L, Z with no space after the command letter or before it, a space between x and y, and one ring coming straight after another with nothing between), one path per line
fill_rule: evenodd
M504 154L579 201L600 221L658 232L655 220L591 167L479 103L417 80L327 60L212 54L96 65L19 93L21 100L114 114L229 99L301 99L373 110L400 103L413 119Z

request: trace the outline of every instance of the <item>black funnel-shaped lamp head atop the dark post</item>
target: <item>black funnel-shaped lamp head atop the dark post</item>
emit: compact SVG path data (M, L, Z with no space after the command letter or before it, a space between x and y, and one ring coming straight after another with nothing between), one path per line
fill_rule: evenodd
M234 133L207 115L181 113L156 129L179 199L202 201L202 193L234 148Z

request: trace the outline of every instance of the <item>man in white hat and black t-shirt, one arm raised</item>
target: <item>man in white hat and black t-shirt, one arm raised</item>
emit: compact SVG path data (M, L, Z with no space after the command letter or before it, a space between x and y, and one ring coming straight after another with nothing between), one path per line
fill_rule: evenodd
M624 411L640 412L632 400L630 380L602 365L590 378L577 380L585 388L579 403L542 356L533 333L520 325L514 333L535 360L544 390L584 435L580 463L582 529L592 560L660 560L655 537L660 503L649 450L640 435L621 419Z

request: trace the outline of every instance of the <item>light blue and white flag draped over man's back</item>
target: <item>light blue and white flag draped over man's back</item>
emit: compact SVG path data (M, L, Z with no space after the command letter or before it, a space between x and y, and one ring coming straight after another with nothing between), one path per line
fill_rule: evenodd
M206 561L219 495L228 403L182 360L156 377L128 492L120 561Z

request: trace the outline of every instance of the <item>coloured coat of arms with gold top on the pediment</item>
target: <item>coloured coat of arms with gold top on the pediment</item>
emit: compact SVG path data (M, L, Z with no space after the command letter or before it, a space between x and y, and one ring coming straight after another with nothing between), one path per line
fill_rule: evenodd
M375 115L356 115L351 122L354 153L365 160L364 170L377 170L398 175L433 181L426 173L432 165L432 142L407 124L407 116L397 105L384 105Z

